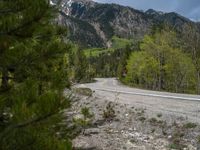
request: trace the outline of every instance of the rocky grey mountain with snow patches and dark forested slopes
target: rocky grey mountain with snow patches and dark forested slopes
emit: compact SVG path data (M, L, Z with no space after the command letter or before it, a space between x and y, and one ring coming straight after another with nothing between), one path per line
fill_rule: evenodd
M54 0L55 1L55 0ZM169 24L178 32L192 26L200 33L199 23L174 12L146 12L117 4L92 0L62 0L58 23L69 28L69 37L83 47L110 47L111 38L141 39L152 28Z

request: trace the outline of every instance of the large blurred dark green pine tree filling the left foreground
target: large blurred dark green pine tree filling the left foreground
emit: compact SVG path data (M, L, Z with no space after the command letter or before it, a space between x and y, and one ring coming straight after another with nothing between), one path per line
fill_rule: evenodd
M69 85L61 27L48 0L0 2L0 149L66 150L59 137Z

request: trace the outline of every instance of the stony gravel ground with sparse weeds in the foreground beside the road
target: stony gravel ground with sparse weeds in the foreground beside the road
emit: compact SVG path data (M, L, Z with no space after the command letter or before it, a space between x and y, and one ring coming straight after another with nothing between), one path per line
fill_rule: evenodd
M104 99L105 95L99 94L78 96L71 110L66 112L67 116L77 117L81 108L88 107L94 114L92 125L73 140L74 149L197 150L200 126L185 115L160 109L150 111L152 107L141 103L122 103L118 94L114 100ZM103 112L109 103L115 117L105 119Z

